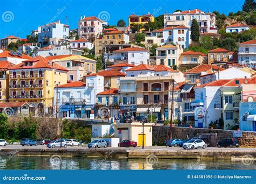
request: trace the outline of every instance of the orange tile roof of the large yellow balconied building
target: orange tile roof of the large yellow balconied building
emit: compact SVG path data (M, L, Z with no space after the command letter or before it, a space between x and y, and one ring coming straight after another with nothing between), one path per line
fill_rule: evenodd
M25 62L32 62L33 65L32 66L24 66ZM52 65L49 65L49 62ZM53 63L53 62L49 61L48 59L46 59L42 56L36 56L35 58L24 60L24 61L22 61L22 63L19 63L18 65L15 65L15 66L12 66L8 70L11 70L11 69L28 69L28 68L52 68L52 69L57 69L57 70L63 70L63 71L66 71L66 72L69 71L68 69L66 69L62 66L59 66L58 64Z

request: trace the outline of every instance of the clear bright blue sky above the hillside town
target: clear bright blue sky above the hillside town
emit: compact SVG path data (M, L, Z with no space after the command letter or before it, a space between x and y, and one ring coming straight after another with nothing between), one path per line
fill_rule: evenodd
M154 17L174 10L217 10L220 13L241 10L244 0L0 0L0 38L14 35L26 38L31 30L60 20L77 29L80 16L96 16L116 25L124 19L127 25L132 12Z

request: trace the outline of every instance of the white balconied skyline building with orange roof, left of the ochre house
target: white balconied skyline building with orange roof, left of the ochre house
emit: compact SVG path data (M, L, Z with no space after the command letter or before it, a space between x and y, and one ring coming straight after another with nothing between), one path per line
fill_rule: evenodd
M103 24L105 23L103 20L92 16L92 17L80 17L78 21L78 36L79 38L92 38L99 37L102 34Z

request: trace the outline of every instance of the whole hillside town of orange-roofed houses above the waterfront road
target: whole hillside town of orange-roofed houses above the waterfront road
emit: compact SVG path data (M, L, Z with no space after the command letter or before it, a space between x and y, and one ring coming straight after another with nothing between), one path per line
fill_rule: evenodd
M78 15L76 29L56 20L1 38L0 112L256 131L255 22L241 16Z

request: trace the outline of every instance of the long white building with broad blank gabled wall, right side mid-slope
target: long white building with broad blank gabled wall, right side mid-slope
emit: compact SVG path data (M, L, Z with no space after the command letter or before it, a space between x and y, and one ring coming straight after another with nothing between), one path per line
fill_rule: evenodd
M219 79L233 79L234 74L235 74L235 77L237 78L242 78L245 76L247 78L251 77L251 73L245 72L240 68L231 67L218 72L199 76L200 84L205 84L205 83L216 81Z

